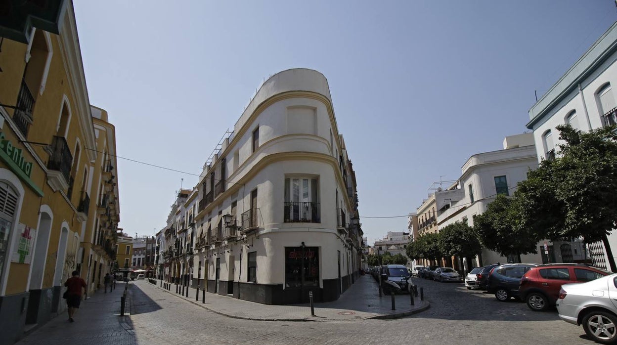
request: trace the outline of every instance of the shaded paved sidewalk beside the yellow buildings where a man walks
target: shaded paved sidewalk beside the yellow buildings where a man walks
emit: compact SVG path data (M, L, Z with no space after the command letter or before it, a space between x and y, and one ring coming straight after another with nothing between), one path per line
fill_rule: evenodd
M125 316L120 317L120 297L124 288L124 283L117 283L111 293L103 293L104 290L99 289L86 301L81 301L75 313L75 322L68 322L68 314L63 312L17 344L136 345L128 302L131 289L135 287L129 283Z

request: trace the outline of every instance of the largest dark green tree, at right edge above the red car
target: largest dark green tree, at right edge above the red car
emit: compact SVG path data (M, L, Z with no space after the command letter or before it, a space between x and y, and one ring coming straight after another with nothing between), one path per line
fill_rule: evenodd
M557 126L559 157L542 160L515 193L526 226L549 239L581 236L585 243L603 241L611 270L617 272L607 235L617 219L617 127L589 132ZM520 204L519 204L520 203Z

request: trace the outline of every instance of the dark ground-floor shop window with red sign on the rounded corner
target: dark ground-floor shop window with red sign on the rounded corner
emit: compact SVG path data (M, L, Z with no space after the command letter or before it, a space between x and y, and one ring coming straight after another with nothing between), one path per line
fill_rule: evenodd
M285 287L319 287L319 247L285 248Z

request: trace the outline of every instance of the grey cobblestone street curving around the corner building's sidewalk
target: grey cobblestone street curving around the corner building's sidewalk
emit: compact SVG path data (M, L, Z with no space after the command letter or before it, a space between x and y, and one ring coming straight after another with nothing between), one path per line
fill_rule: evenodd
M594 344L581 327L559 320L555 310L531 312L522 302L498 302L462 284L414 280L424 288L430 309L395 320L331 322L225 317L136 281L129 289L132 329L116 316L118 291L107 304L98 296L87 302L110 315L106 320L81 310L78 322L68 324L62 314L20 344L377 344L384 339L388 344Z

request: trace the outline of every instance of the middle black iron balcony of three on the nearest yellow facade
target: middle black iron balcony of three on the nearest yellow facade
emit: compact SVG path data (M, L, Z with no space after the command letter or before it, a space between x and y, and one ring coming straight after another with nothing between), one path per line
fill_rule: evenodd
M73 156L68 149L67 140L62 136L54 136L51 142L51 154L47 163L47 179L54 192L66 190L69 186Z

